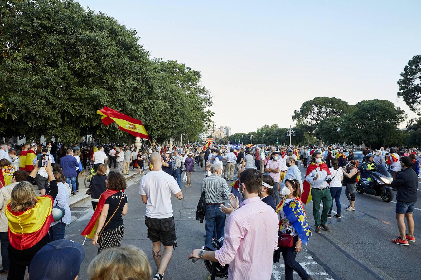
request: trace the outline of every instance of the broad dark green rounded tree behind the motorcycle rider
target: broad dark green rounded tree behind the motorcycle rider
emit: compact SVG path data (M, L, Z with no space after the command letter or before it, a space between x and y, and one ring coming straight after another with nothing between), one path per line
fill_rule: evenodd
M370 148L393 146L399 144L401 131L397 127L405 118L405 112L390 101L361 101L344 116L340 135L347 143Z

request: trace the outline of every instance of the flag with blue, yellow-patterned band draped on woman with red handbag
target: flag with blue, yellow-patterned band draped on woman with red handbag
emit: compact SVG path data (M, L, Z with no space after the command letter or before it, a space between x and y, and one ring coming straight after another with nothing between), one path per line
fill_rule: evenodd
M294 200L291 200L288 203L285 203L285 198L282 199L280 204L278 204L276 207L276 212L279 212L281 208L285 213L285 217L293 226L298 236L300 236L303 244L307 243L307 241L310 239L310 236L312 236L312 232L310 230L306 212L304 211L304 207L300 198L296 197ZM285 222L287 221L281 218L279 222L279 230L284 228Z

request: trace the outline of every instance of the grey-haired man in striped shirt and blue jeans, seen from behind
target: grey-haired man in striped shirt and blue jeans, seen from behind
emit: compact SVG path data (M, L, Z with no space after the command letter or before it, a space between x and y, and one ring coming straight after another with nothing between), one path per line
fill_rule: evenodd
M205 191L205 244L212 243L213 231L216 228L216 238L224 236L225 214L219 210L219 205L224 204L229 197L228 184L221 178L221 165L210 165L210 175L202 181L200 191Z

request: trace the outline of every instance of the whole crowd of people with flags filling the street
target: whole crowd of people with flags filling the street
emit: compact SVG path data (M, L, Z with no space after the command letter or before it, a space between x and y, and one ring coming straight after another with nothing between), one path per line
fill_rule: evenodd
M205 220L205 244L221 237L224 243L216 251L194 249L189 258L229 264L229 279L270 279L272 263L280 262L282 255L287 280L292 279L293 271L301 279L312 279L296 262L297 253L312 233L304 204L313 201L314 231L331 231L327 219L332 218L333 200L334 217L341 219L339 199L345 188L349 200L346 210L354 211L359 177L370 178L370 172L379 165L388 166L391 185L397 189L400 235L392 241L405 246L408 241L415 242L412 213L421 178L421 154L416 148L405 150L402 157L398 152L396 147L366 148L358 160L354 147L155 145L138 151L125 144L0 144L0 274L23 279L31 264L29 279L76 279L84 249L63 239L71 221L69 197L78 192L78 174L93 168L95 176L87 193L94 213L82 233L98 246L98 256L88 268L90 279L162 280L177 245L171 196L183 200L181 190L192 186L196 168L206 172L197 207L197 219ZM110 171L112 166L117 171ZM304 180L299 166L306 168ZM146 175L145 167L149 170ZM143 175L139 194L146 204L145 225L152 241L155 275L143 251L120 247L125 234L122 216L128 214L123 175L130 168ZM225 204L227 200L229 204ZM52 257L61 255L75 257L66 266L62 260L66 258ZM46 267L40 271L45 259L63 262L66 269L57 272ZM36 270L32 264L37 264ZM117 269L120 265L127 269Z

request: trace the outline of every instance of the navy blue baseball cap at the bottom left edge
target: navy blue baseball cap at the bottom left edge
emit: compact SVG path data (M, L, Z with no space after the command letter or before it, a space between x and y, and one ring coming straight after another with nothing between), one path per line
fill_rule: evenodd
M85 258L82 244L69 239L48 243L35 254L29 280L75 280Z

